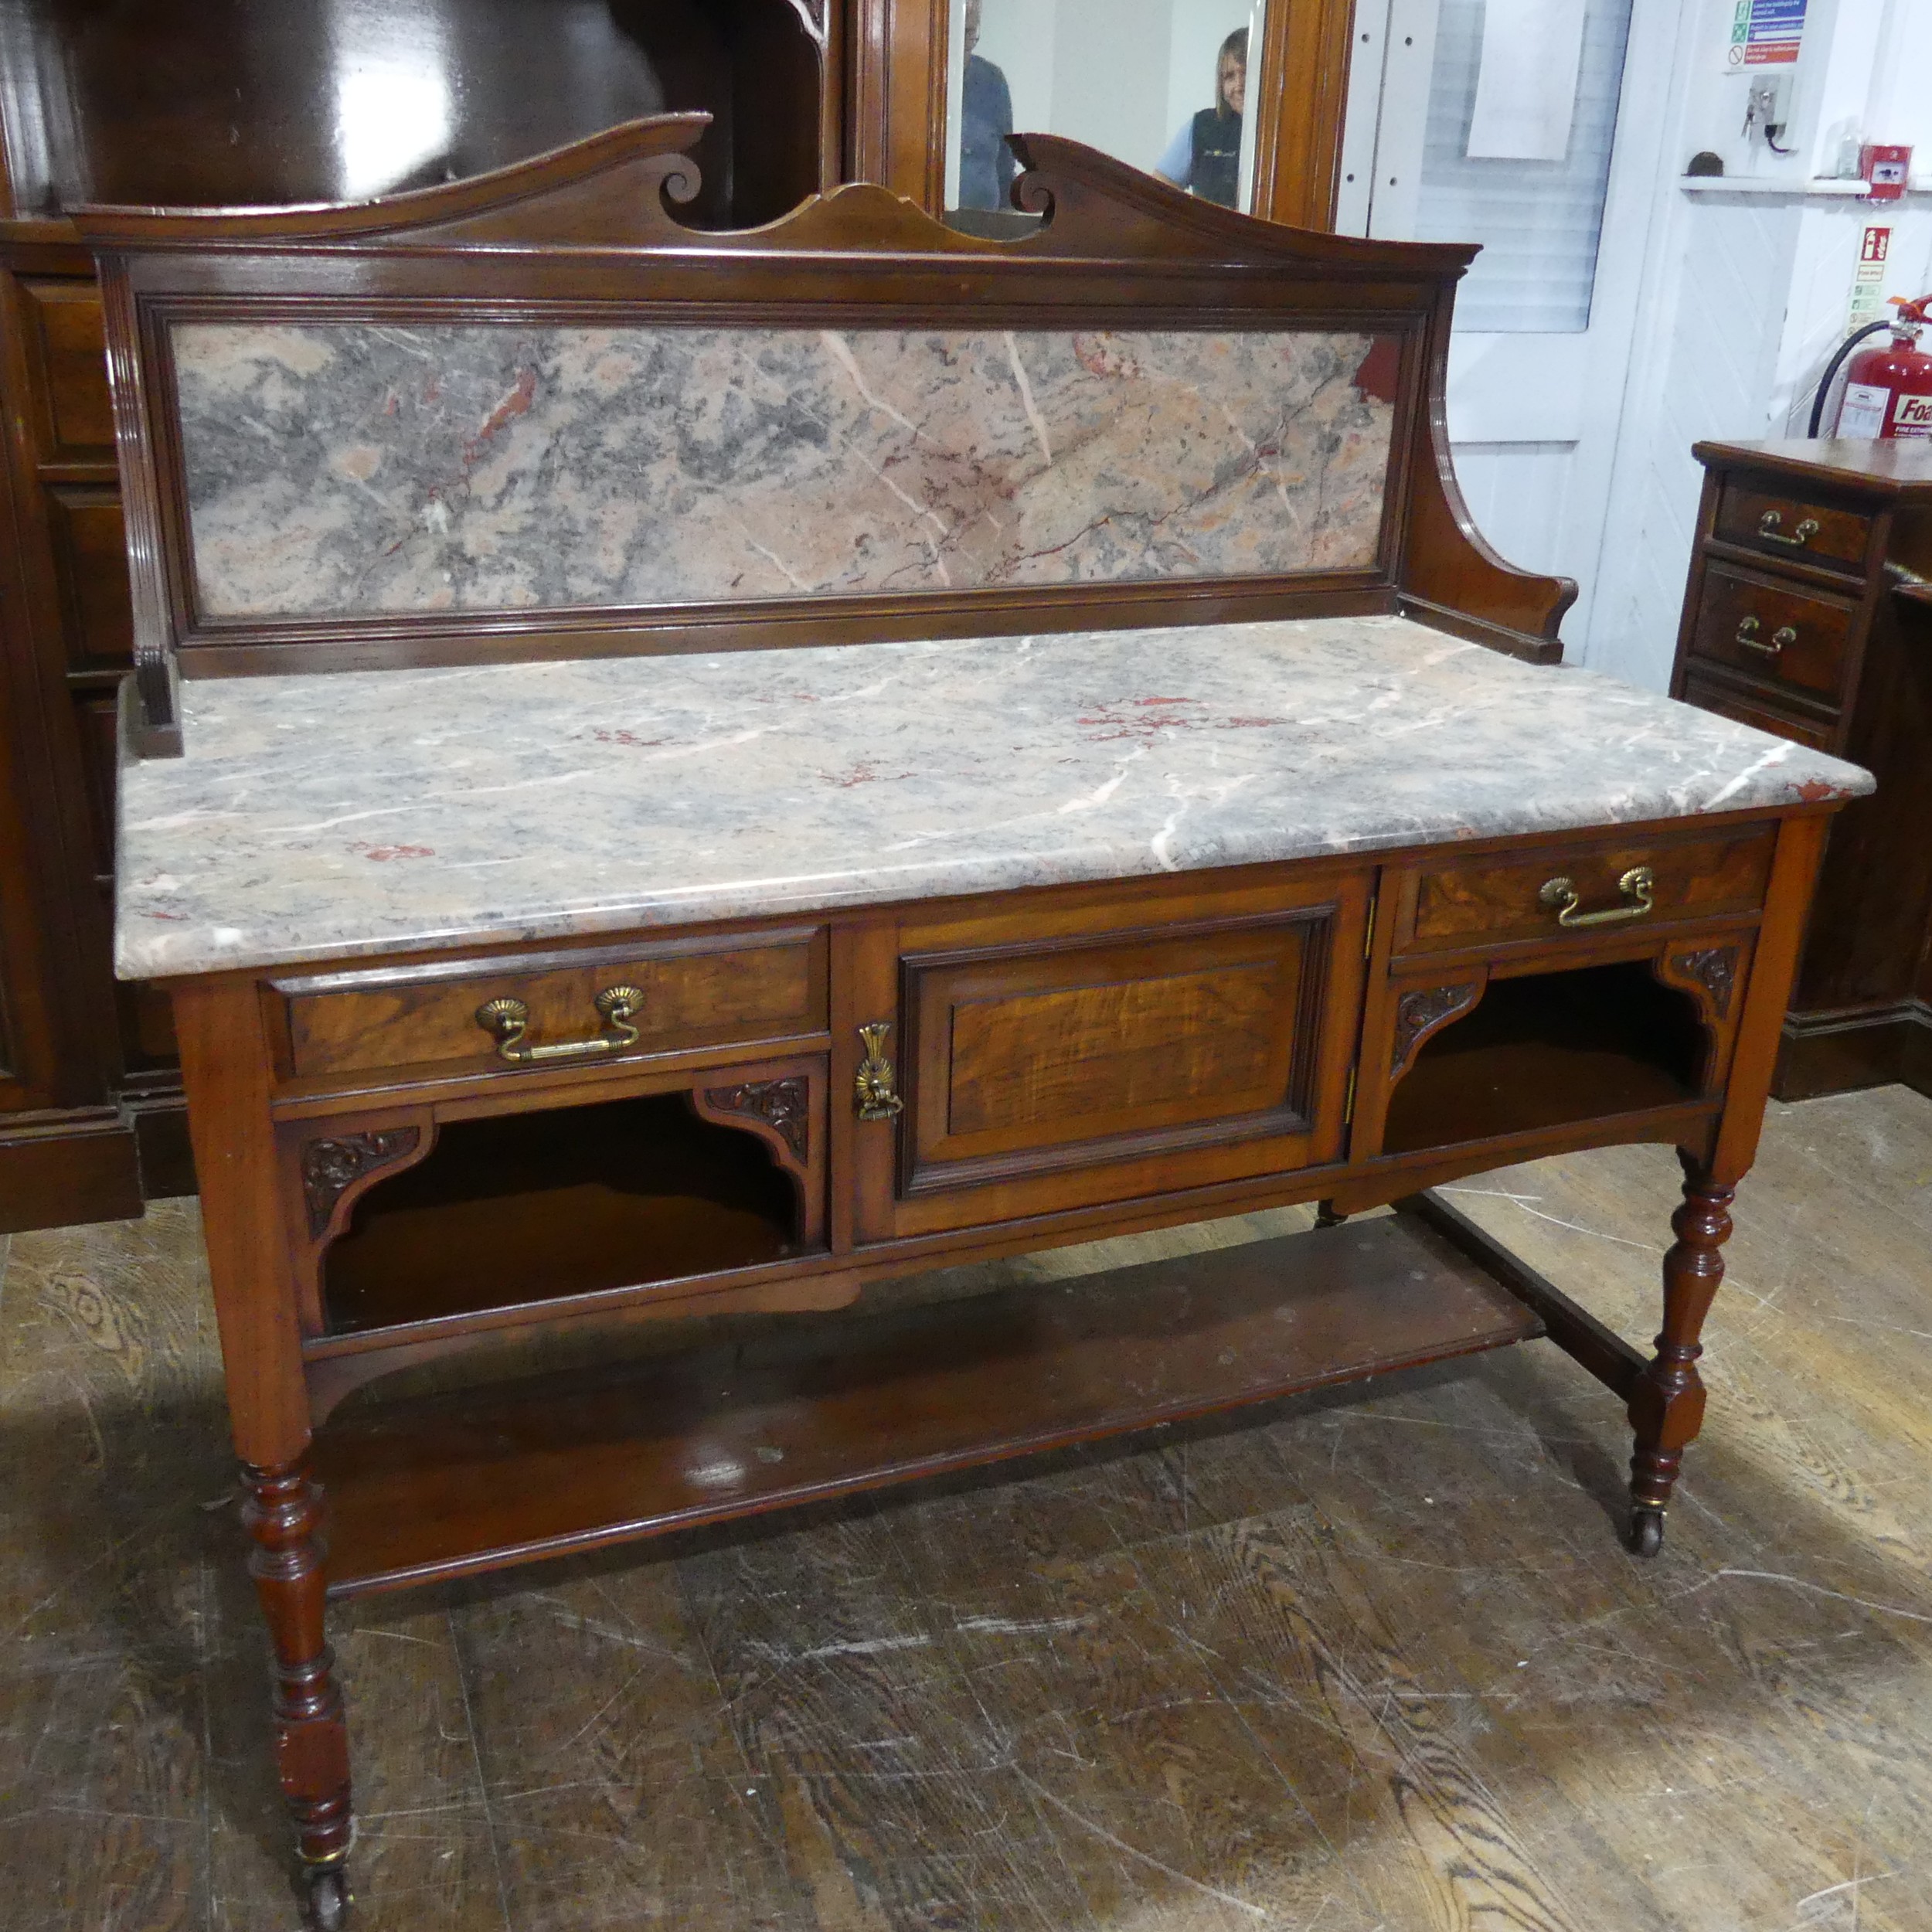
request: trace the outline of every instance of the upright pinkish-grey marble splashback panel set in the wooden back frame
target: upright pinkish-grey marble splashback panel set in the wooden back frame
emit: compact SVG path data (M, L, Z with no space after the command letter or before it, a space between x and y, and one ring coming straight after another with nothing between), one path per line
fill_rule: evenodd
M201 614L1366 568L1393 342L184 323Z

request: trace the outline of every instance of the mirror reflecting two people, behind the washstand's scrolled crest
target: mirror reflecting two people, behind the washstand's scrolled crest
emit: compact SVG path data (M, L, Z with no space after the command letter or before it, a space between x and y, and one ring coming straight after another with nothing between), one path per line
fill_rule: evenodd
M947 220L1018 234L1014 129L1086 141L1252 213L1267 0L951 0Z

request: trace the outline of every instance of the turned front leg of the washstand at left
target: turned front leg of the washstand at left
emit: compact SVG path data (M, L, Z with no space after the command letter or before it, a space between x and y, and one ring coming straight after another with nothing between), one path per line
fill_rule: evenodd
M321 1493L303 1463L242 1464L249 1575L274 1640L274 1758L296 1820L307 1907L321 1932L348 1922L350 1743L323 1640Z

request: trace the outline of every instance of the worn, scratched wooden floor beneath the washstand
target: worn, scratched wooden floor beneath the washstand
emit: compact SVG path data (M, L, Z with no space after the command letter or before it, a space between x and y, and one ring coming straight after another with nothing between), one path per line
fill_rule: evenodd
M1667 1151L1453 1198L1648 1337ZM1530 1343L357 1604L357 1924L1926 1932L1932 1103L1774 1109L1731 1262L1654 1565ZM296 1924L238 1544L193 1206L14 1236L8 1932Z

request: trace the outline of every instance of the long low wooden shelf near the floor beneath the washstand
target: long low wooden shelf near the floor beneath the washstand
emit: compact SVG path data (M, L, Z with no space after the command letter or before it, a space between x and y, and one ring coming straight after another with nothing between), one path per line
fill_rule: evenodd
M844 1495L1542 1335L1410 1215L1061 1287L810 1318L624 1378L344 1416L332 1596Z

